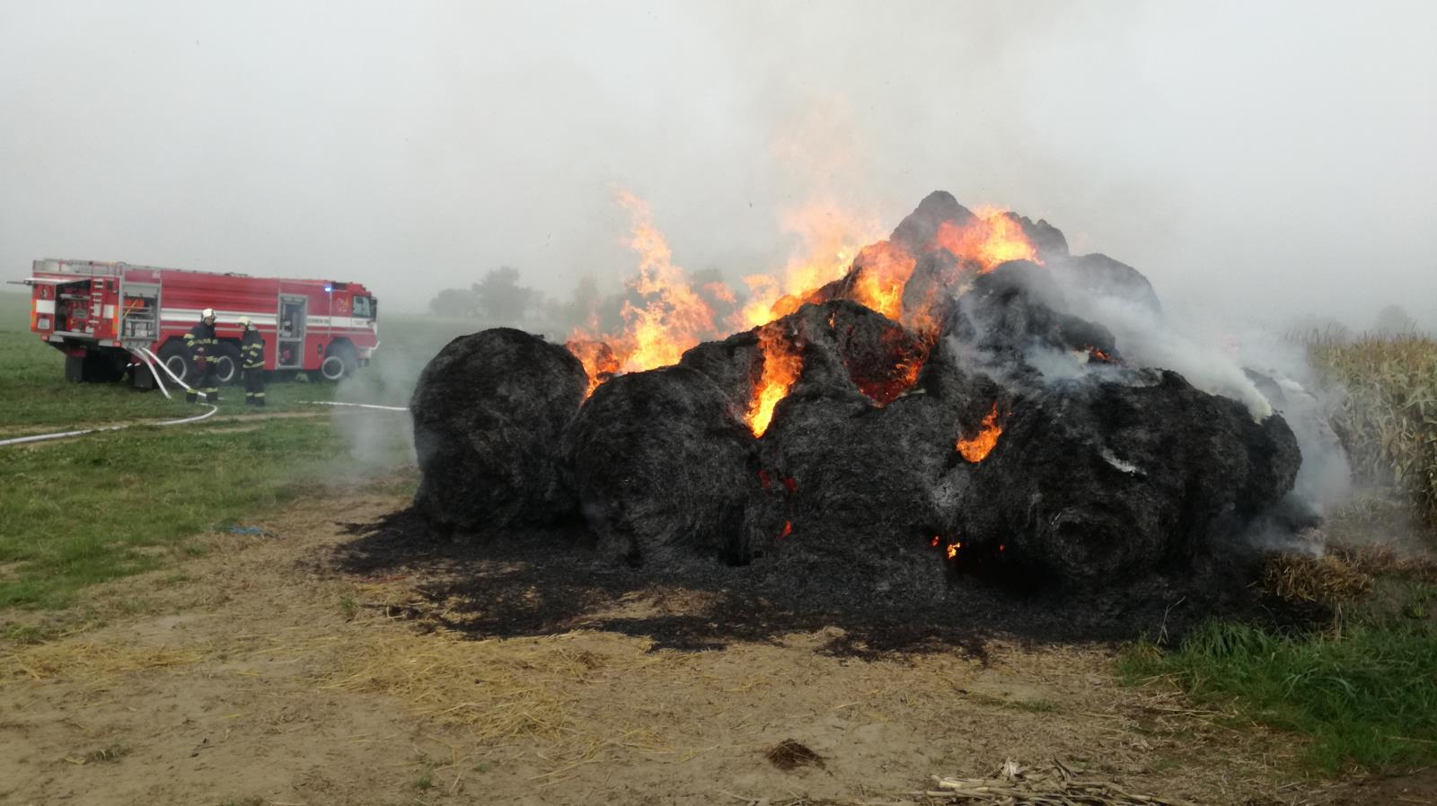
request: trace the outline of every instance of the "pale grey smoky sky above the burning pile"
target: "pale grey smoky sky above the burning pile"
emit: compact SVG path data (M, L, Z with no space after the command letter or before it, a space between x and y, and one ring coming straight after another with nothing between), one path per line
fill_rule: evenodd
M1437 326L1431 3L0 4L0 279L36 257L616 287L783 211L1048 218L1164 299Z

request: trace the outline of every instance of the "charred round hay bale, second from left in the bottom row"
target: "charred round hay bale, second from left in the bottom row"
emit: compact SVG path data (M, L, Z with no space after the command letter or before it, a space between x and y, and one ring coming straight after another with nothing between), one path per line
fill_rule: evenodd
M667 366L595 389L565 445L601 547L631 563L744 562L759 496L753 434L703 372Z

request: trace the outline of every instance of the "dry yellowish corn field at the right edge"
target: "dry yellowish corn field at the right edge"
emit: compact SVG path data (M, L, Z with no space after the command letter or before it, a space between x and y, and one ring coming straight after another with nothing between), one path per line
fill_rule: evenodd
M1365 481L1411 494L1437 527L1437 341L1420 335L1302 339L1319 376L1346 391L1332 424Z

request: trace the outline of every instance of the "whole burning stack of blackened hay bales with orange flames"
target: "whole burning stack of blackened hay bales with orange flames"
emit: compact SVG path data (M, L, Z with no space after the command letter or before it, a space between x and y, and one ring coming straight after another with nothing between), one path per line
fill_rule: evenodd
M1161 312L1135 269L934 193L842 276L677 363L673 345L645 363L645 332L466 336L414 394L415 510L464 529L578 511L635 565L1083 588L1183 569L1283 503L1296 438L1129 366L1075 295ZM632 320L701 319L681 313Z

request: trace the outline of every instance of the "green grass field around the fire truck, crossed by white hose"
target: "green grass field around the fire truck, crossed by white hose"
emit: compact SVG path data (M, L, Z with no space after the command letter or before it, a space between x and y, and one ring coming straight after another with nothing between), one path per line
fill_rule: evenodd
M302 401L404 405L434 352L473 323L381 320L371 366L339 384L272 384L254 417L239 388L210 420L0 447L0 608L63 608L86 585L203 550L193 540L339 484L414 483L402 412ZM7 437L203 412L126 384L72 384L63 356L29 330L29 297L0 293L0 434Z

